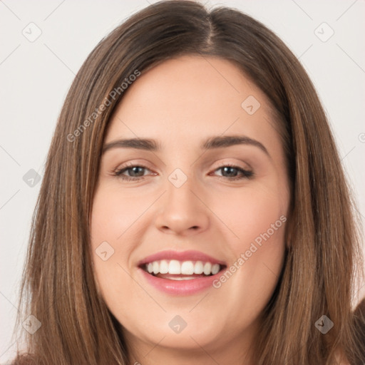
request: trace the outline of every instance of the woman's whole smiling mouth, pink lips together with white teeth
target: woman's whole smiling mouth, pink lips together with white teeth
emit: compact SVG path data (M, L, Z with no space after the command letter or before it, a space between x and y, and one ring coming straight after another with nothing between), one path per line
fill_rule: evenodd
M138 265L148 284L168 294L187 295L212 286L227 264L201 252L165 251Z

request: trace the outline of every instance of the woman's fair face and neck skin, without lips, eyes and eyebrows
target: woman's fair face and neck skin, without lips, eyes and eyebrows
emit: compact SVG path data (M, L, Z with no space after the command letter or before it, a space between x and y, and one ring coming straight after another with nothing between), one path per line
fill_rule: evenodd
M249 115L247 96L261 104ZM151 138L159 152L111 148L103 154L91 216L92 249L108 242L106 261L93 255L98 290L123 326L130 364L252 364L262 310L284 259L285 224L219 289L175 296L151 287L138 262L162 250L197 250L230 266L279 217L287 217L289 180L284 151L264 93L230 61L183 56L143 73L110 120L105 144ZM218 135L246 135L262 143L201 150ZM252 170L230 180L227 163ZM113 175L142 165L143 180ZM187 176L181 187L168 177ZM140 171L140 170L139 170ZM133 170L124 172L135 176ZM237 172L240 176L240 172ZM289 217L288 217L289 219ZM180 315L179 334L168 323Z

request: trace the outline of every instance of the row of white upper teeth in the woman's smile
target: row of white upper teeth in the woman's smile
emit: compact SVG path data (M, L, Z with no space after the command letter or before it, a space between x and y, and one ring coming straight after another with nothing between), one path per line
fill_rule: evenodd
M166 259L153 261L146 264L146 269L150 274L217 274L220 271L220 264L212 264L211 262L202 261L183 261L172 259L170 262Z

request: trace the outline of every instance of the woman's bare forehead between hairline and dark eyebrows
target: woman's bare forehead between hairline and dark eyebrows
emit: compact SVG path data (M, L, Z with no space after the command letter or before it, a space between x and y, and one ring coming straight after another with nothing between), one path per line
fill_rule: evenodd
M114 138L169 138L273 131L267 97L235 64L222 58L182 56L143 73L125 91L110 119ZM200 140L200 139L199 139Z

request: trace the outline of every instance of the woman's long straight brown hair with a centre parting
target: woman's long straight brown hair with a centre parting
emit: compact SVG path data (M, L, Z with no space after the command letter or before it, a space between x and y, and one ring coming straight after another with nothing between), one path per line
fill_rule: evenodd
M34 212L17 320L27 349L15 363L128 364L118 322L97 293L90 250L103 138L125 78L186 54L232 61L278 115L292 205L282 276L263 314L255 364L331 364L338 349L363 364L364 317L351 306L363 270L359 227L314 86L263 24L194 1L160 1L131 16L98 43L73 81ZM34 334L21 327L29 315L41 322ZM327 334L314 325L322 315L334 323Z

